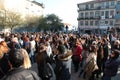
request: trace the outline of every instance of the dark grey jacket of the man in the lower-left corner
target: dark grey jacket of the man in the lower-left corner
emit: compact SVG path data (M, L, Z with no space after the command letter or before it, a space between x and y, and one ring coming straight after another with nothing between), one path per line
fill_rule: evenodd
M37 73L23 67L12 69L2 80L41 80Z

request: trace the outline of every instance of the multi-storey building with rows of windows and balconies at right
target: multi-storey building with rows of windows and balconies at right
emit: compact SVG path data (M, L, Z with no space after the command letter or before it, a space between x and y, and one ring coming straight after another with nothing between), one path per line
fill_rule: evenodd
M101 33L116 23L117 0L93 0L78 4L78 28L87 33Z

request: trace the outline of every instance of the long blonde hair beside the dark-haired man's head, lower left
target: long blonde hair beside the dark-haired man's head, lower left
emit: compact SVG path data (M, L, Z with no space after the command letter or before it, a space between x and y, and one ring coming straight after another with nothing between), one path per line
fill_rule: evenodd
M23 54L24 56L24 63L23 63L23 67L25 69L28 69L31 67L31 61L30 61L30 58L29 58L29 55L27 53L27 51L25 49L20 49L21 53Z

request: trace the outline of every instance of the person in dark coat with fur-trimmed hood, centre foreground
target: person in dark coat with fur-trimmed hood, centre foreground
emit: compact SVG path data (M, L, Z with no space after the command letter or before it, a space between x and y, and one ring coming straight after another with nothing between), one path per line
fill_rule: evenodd
M56 80L71 80L71 56L72 51L67 50L64 45L64 40L58 40L58 54L56 55L55 74Z

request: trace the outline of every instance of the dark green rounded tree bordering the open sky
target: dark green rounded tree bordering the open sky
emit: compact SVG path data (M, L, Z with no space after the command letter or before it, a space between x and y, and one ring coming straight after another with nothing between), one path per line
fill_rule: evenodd
M50 30L50 31L59 31L62 30L63 23L55 14L47 15L39 20L38 30Z

